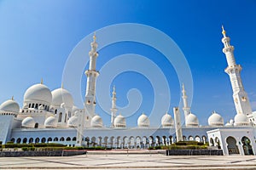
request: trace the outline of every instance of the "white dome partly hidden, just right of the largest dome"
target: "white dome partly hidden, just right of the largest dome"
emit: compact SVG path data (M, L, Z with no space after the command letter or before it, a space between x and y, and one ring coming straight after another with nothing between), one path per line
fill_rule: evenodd
M52 91L51 94L51 105L61 106L61 104L64 103L65 105L67 105L67 107L73 107L73 97L66 89L57 88L54 91Z

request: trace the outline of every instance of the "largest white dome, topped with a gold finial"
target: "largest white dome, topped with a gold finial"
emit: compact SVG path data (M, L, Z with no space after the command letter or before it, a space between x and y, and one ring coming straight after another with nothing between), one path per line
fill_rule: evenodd
M32 87L27 88L26 93L24 94L24 102L33 100L43 101L50 105L52 95L49 88L44 84L34 84Z

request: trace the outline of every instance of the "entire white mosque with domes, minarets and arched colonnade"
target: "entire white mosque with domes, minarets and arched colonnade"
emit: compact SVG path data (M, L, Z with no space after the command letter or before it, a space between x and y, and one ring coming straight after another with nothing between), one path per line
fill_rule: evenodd
M228 67L225 72L230 76L233 99L236 106L234 120L224 124L217 112L208 118L208 126L200 126L198 118L192 114L187 95L182 86L183 114L185 125L182 129L183 140L209 142L212 148L224 150L224 155L255 155L256 152L256 111L252 111L245 92L240 72L236 65L234 47L230 37L224 37L223 53ZM69 146L106 146L112 148L148 148L149 146L169 145L177 141L175 123L172 116L162 113L161 127L151 127L146 114L137 118L137 127L126 127L125 116L116 115L116 92L113 88L111 126L104 127L100 115L96 115L96 35L90 43L91 50L87 76L84 108L73 104L73 96L67 89L51 91L43 81L26 90L23 106L9 99L0 105L0 141L14 143L61 143ZM179 113L177 109L177 113ZM153 121L153 120L151 120Z

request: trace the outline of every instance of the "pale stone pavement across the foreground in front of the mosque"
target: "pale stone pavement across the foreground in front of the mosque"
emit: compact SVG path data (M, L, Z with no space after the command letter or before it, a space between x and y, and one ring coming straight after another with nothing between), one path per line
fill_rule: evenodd
M1 157L0 169L256 169L256 156L106 153L64 157Z

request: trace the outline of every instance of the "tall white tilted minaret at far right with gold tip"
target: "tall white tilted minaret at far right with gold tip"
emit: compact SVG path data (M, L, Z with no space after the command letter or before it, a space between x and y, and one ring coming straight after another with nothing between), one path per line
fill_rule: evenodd
M230 82L233 90L233 99L236 105L236 114L244 114L246 116L252 114L252 108L241 82L241 65L236 65L234 57L234 47L230 45L230 37L226 36L226 31L222 26L222 42L224 43L223 53L226 55L228 67L225 72L230 76Z

